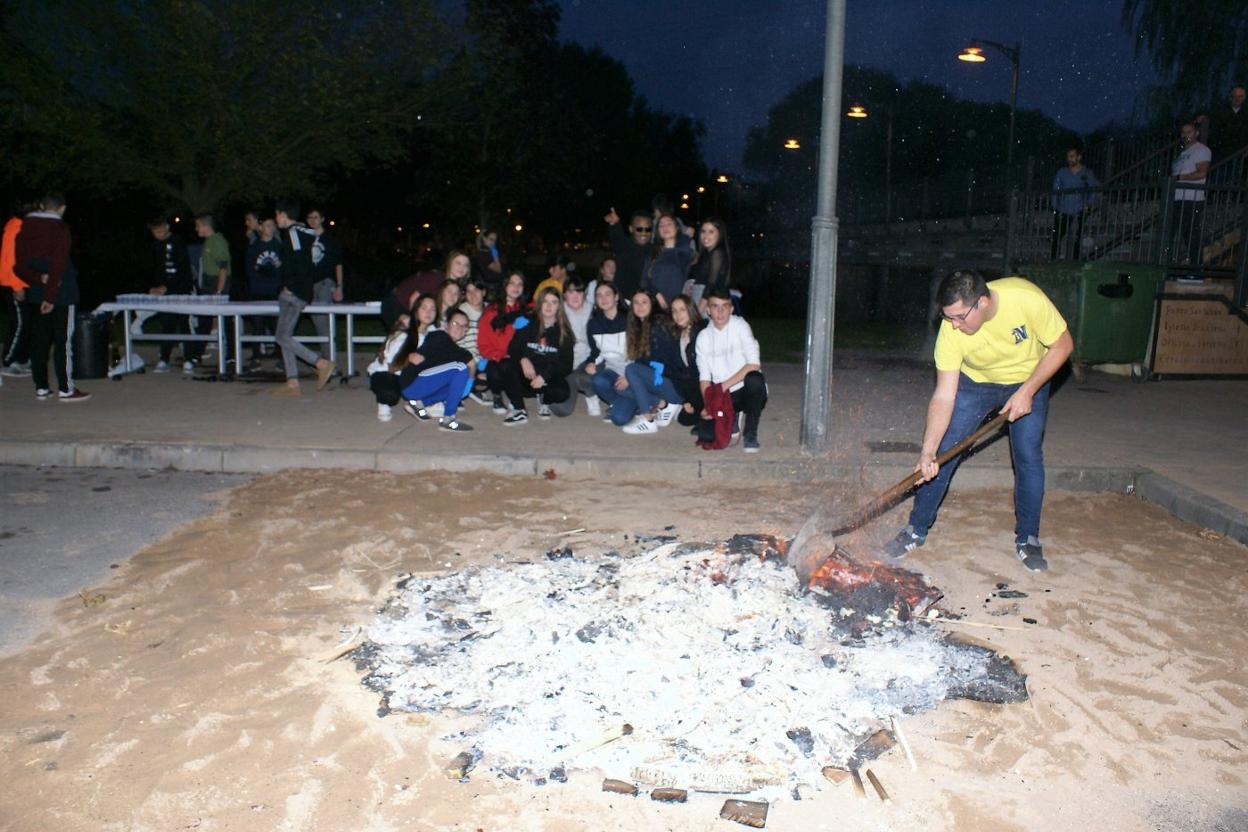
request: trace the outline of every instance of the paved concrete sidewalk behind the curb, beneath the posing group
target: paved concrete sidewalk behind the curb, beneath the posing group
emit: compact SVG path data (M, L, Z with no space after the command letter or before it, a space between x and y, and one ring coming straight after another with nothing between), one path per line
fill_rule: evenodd
M363 358L363 357L361 357ZM364 362L367 363L367 362ZM361 364L363 365L363 364ZM37 402L29 379L0 388L0 463L175 468L257 473L283 468L695 480L700 478L841 481L872 489L912 469L922 438L932 372L914 362L837 353L832 452L797 447L801 368L771 365L760 454L739 447L696 448L686 428L630 437L590 418L508 428L488 408L466 402L453 434L401 410L376 418L366 380L321 393L305 382L300 399L272 398L273 383L207 382L180 373L84 382L81 404ZM1193 523L1248 543L1248 384L1191 380L1138 384L1090 373L1055 395L1045 444L1052 489L1137 490ZM533 415L533 413L530 413ZM993 442L967 460L956 486L1013 483L1008 443Z

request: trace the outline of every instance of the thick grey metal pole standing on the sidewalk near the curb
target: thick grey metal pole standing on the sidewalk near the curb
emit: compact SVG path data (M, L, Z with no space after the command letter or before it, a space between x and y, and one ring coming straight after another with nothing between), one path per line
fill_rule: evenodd
M819 201L811 221L810 298L806 308L806 383L801 447L822 453L832 435L832 334L836 312L836 165L841 146L845 0L827 0L824 105L819 136Z

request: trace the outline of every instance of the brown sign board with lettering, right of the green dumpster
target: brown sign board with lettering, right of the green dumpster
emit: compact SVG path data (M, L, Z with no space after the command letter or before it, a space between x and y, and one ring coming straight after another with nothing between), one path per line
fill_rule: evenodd
M1167 281L1157 317L1152 372L1158 375L1248 375L1248 321L1222 301L1231 281Z

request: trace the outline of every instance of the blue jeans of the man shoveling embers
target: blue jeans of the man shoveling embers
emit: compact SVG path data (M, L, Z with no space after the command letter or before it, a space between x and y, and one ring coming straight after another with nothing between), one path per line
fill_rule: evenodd
M988 414L997 413L1022 384L981 384L966 375L957 380L957 399L953 417L940 440L937 455L975 433ZM1031 400L1031 413L1010 423L1010 457L1015 469L1015 541L1040 536L1040 509L1045 503L1045 422L1048 418L1048 384L1036 392ZM936 523L948 481L957 470L961 458L941 465L936 479L924 483L915 493L915 505L910 510L910 525L920 538Z

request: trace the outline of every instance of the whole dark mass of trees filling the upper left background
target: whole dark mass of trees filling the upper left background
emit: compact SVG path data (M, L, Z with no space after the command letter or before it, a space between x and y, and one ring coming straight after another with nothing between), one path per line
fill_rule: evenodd
M11 0L0 15L10 196L195 212L293 195L359 223L553 233L704 175L701 126L560 44L549 0Z

